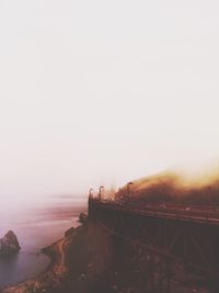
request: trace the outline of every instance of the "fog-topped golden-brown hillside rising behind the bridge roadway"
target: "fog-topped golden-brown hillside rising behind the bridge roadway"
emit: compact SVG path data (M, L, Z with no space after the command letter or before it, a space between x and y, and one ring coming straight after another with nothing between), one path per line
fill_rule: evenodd
M164 171L131 182L129 198L135 201L219 204L219 168L196 174ZM124 185L116 193L116 198L126 196L127 185Z

